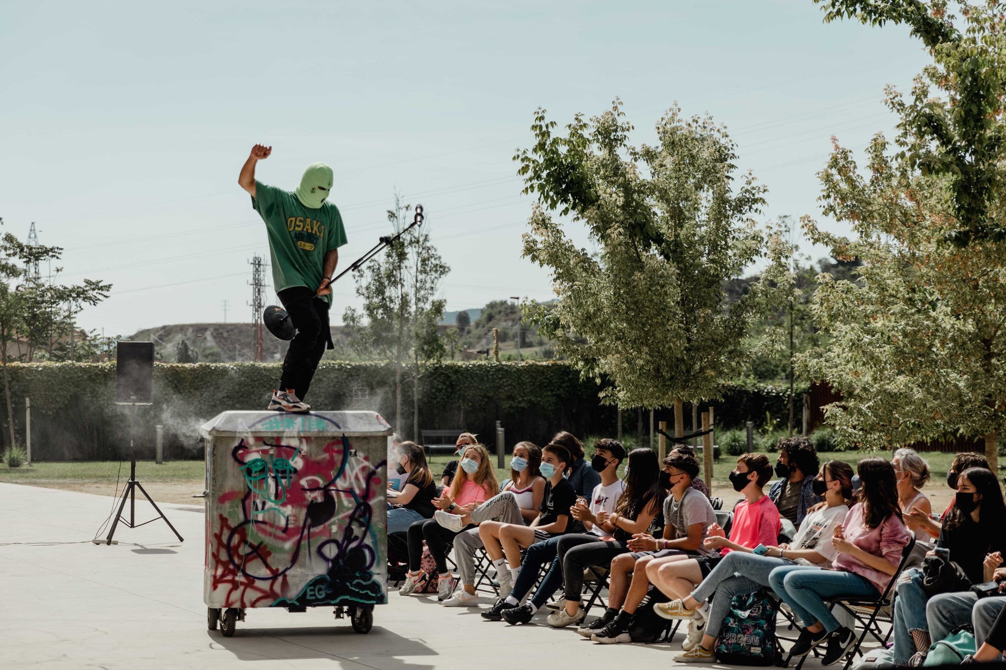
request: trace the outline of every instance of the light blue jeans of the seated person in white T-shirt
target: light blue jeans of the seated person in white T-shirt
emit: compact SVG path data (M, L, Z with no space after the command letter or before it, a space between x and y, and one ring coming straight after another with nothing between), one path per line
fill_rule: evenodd
M730 604L734 596L752 594L769 585L772 572L784 566L792 566L793 562L773 556L760 556L745 551L730 551L716 564L702 584L692 592L692 598L699 603L708 601L709 616L706 617L705 634L717 637L723 620L729 614ZM792 606L791 606L792 607Z

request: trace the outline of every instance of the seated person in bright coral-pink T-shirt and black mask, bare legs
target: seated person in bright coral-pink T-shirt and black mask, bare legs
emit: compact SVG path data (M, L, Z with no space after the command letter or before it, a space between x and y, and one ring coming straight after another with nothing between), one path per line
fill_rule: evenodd
M671 555L655 559L647 566L647 574L664 595L672 599L682 599L688 596L696 585L709 576L722 557L735 550L738 546L754 548L759 544L772 545L779 541L780 516L779 508L765 494L765 485L772 477L772 463L764 454L743 454L737 458L737 466L730 473L730 483L733 490L742 493L744 498L733 508L733 522L730 525L730 537L726 538L723 529L713 524L709 529L709 537L703 542L703 548L719 549L718 553L709 556L691 559L684 555ZM666 603L654 606L654 611L665 618L675 614L674 610L666 609ZM688 635L682 648L687 652L677 659L692 660L691 655L701 655L703 650L696 650L702 639L705 628L704 611L696 612L688 622Z

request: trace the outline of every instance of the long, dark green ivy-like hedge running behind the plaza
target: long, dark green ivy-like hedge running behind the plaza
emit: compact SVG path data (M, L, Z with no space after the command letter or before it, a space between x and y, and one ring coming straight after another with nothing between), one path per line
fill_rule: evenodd
M618 414L600 405L598 386L580 381L562 362L448 362L422 371L421 429L463 428L494 444L499 420L508 445L522 439L541 444L557 430L580 436L614 436L617 430ZM278 384L280 366L156 364L155 404L135 409L115 404L114 363L11 364L8 373L19 442L24 439L24 398L31 398L34 460L126 455L131 413L140 457L153 454L154 426L163 425L166 456L196 458L202 454L199 425L225 410L265 408ZM354 388L361 386L368 398L354 399ZM412 393L411 369L406 369L401 427L406 437L411 437ZM716 424L725 429L752 420L761 427L767 413L783 421L787 394L763 385L726 385L723 399L714 403ZM372 410L393 421L394 370L381 363L323 361L307 400L318 409ZM661 410L657 420L673 423L672 414ZM6 411L2 415L6 444ZM689 421L690 408L686 417ZM635 435L636 427L635 412L624 413L624 434Z

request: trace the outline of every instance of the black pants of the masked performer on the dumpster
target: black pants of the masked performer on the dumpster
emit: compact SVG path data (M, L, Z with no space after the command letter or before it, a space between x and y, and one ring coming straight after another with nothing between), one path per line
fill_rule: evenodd
M335 349L328 326L328 303L307 286L284 288L277 295L297 328L283 360L280 389L293 389L304 400L325 349Z

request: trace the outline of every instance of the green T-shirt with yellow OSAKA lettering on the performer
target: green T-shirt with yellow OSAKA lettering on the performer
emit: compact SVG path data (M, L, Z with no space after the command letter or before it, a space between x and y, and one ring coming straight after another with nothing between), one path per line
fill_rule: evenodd
M325 254L346 243L338 208L329 203L319 209L305 207L290 191L259 181L255 183L255 194L252 207L266 222L276 291L294 286L318 288ZM331 293L321 297L332 303Z

